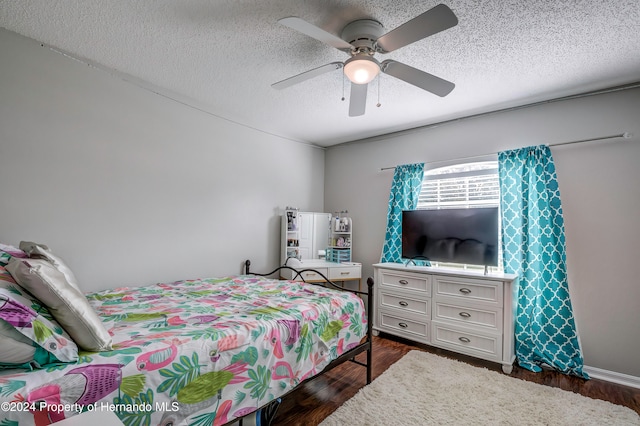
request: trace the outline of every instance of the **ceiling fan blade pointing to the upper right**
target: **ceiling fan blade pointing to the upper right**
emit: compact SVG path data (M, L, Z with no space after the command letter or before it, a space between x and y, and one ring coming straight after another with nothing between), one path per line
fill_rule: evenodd
M439 4L378 38L376 48L392 52L440 31L458 25L458 18L448 6Z

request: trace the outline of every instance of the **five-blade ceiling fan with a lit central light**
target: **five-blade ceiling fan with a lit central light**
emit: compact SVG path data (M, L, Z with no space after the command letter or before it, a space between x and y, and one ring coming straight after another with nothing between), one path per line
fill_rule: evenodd
M344 69L344 74L351 81L350 117L364 114L367 85L376 78L380 71L441 97L448 95L455 87L455 84L450 81L443 80L440 77L401 62L391 59L378 62L373 57L376 53L393 52L425 37L456 26L458 18L444 4L437 5L386 34L382 24L373 19L360 19L347 24L342 30L341 37L328 33L295 16L280 19L278 22L342 50L350 54L351 58L345 62L331 62L289 77L271 86L275 89L284 89L324 73Z

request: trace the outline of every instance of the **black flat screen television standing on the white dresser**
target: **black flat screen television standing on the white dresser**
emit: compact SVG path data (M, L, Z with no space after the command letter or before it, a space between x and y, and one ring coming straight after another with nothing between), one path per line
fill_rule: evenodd
M498 208L405 210L402 257L498 265Z

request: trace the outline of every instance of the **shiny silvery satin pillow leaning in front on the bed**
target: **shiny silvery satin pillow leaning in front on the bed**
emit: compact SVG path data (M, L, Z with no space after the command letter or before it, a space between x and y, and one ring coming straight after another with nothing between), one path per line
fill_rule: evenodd
M12 258L6 266L20 287L44 303L76 344L87 351L111 350L111 336L87 298L44 259Z

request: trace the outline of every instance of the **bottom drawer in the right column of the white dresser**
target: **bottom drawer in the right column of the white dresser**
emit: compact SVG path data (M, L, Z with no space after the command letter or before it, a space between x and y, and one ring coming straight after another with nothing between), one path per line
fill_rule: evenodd
M484 334L437 321L431 323L431 344L489 361L502 358L502 334Z

